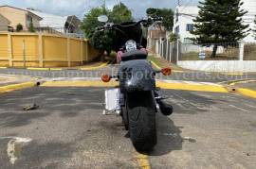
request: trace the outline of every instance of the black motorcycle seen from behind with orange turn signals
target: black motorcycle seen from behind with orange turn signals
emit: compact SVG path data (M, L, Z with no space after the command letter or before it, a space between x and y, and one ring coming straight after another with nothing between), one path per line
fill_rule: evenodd
M153 69L144 50L147 42L142 36L142 26L153 25L161 20L148 18L138 22L120 25L108 23L98 27L99 31L116 31L116 50L119 55L121 53L119 73L117 76L103 75L101 79L104 82L109 82L111 78L118 79L119 89L116 95L119 101L115 109L119 111L124 127L129 130L130 138L138 151L151 150L156 144L155 113L158 110L164 115L173 113L173 107L163 101L155 87L155 75L162 73L170 76L172 70ZM107 22L107 17L102 15L99 21Z

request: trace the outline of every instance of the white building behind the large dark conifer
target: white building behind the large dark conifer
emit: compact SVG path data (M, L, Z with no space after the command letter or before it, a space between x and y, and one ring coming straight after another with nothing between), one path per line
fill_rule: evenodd
M242 0L243 9L247 10L247 14L243 17L243 22L249 25L249 35L243 40L244 42L256 42L252 29L255 29L254 19L256 15L256 0ZM173 32L179 35L180 41L191 43L193 38L190 32L193 30L194 22L192 21L198 15L199 8L197 6L177 6L174 11L174 29Z

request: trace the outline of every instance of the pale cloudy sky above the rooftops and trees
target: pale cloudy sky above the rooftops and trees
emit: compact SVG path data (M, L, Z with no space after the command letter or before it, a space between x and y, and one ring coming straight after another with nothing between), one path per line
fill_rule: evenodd
M106 0L106 7L113 8L123 2L133 11L134 18L144 17L146 8L175 8L178 0ZM181 5L194 5L198 0L180 0ZM44 12L61 16L76 15L83 18L90 8L99 7L103 0L1 0L0 6L9 5L17 8L37 8Z

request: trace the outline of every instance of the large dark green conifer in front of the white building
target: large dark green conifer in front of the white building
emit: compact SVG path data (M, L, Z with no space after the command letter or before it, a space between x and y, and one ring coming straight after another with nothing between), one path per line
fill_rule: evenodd
M192 40L201 44L214 44L212 58L216 57L218 45L227 47L227 42L238 42L247 36L248 25L242 24L241 18L247 13L241 9L243 2L205 0L199 4L199 15L193 20L196 24L192 31L196 38Z

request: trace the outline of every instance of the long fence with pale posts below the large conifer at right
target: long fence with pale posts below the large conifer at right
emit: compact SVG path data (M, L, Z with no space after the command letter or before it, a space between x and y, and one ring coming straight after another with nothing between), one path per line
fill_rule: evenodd
M213 55L214 46L215 55ZM156 54L174 63L177 60L256 60L256 43L192 44L160 39L156 41L155 47Z

